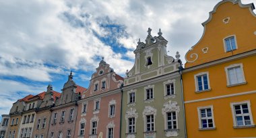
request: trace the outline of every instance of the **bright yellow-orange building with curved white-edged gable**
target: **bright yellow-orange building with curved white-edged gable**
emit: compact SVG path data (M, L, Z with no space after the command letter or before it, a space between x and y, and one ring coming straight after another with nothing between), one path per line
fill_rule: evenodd
M187 136L256 137L256 15L253 3L224 0L187 52ZM254 120L254 121L253 121Z

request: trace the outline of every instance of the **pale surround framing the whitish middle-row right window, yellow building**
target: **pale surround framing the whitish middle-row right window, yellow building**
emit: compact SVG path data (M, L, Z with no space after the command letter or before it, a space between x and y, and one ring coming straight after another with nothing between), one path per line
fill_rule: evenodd
M236 67L238 67L238 66L240 66L240 68L241 68L241 72L242 72L242 76L243 76L243 82L241 82L241 83L236 83L236 84L230 84L230 79L229 79L229 75L228 75L228 70L230 69L230 68L236 68ZM244 74L244 70L243 70L243 64L242 63L238 63L238 64L231 64L230 66L226 66L225 67L225 72L226 72L226 84L227 84L227 86L236 86L236 85L238 85L238 84L245 84L246 83L246 80L245 80L245 74Z

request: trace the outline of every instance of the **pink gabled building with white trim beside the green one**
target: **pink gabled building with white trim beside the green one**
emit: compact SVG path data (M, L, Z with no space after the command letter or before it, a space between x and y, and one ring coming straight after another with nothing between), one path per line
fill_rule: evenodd
M78 102L75 137L119 137L123 78L102 59Z

